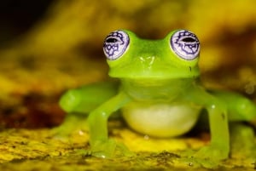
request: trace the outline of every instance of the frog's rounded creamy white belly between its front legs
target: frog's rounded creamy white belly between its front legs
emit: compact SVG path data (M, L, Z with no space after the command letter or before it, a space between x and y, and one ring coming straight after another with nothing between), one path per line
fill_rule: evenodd
M173 137L187 133L195 125L199 108L180 104L137 105L123 108L126 123L139 133L154 137Z

